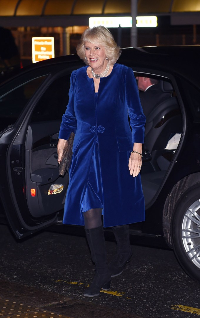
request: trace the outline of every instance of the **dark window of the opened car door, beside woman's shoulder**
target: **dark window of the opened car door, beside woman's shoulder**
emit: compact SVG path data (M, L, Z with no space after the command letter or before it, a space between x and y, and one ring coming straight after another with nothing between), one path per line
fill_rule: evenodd
M31 122L60 120L69 100L70 74L55 79L38 101Z

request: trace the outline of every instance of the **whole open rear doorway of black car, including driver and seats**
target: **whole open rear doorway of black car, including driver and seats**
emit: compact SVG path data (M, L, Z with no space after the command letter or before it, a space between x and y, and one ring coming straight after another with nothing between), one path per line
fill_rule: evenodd
M146 116L140 171L146 206L154 202L170 173L183 131L177 92L168 77L156 73L134 71Z

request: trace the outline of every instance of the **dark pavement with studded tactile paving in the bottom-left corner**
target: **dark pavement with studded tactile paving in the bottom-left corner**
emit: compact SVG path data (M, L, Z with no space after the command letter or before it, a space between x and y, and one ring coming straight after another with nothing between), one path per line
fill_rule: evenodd
M87 300L71 299L58 293L38 290L8 281L0 281L0 317L19 318L82 318L122 317L123 311L104 305L91 304ZM126 315L135 318L138 315Z

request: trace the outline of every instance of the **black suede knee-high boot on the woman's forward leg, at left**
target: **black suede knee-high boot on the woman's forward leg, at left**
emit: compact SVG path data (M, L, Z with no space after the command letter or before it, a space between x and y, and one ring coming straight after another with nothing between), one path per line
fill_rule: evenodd
M102 289L110 289L111 276L106 262L106 249L103 227L85 229L86 238L90 247L91 258L95 263L95 277L90 287L84 291L84 296L98 296Z

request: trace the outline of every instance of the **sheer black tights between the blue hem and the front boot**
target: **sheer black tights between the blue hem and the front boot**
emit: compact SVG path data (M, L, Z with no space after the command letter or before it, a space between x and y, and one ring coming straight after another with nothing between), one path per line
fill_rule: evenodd
M85 229L95 229L102 225L102 209L90 209L83 212Z

